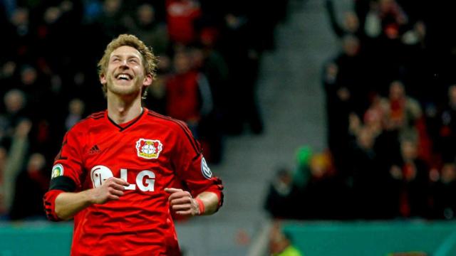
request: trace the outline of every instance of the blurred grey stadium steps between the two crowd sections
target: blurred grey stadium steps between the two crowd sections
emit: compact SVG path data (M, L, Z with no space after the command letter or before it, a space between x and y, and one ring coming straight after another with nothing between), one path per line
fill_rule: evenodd
M264 134L226 139L223 163L212 166L224 181L224 206L212 217L177 225L187 255L247 255L268 221L263 203L276 168L294 168L299 146L324 149L321 68L336 53L337 41L323 1L290 1L276 40L276 51L262 57L257 87Z

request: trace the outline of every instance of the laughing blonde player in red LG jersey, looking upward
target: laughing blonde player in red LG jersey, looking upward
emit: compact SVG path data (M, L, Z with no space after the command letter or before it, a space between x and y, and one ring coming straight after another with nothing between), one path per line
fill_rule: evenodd
M108 110L65 135L44 196L48 218L74 218L73 256L180 255L172 214L215 213L222 183L183 122L141 107L155 69L142 41L120 35L98 67Z

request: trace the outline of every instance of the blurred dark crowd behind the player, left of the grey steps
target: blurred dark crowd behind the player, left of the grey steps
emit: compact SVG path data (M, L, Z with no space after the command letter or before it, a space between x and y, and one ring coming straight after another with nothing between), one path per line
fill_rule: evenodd
M132 33L158 56L145 107L182 119L208 161L223 138L261 134L259 61L275 48L287 1L0 1L0 215L42 218L63 135L105 110L96 64L105 46Z

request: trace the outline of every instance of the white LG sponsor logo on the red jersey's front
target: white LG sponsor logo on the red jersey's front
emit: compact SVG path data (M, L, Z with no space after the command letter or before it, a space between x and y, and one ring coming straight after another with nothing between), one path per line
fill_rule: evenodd
M106 166L95 166L90 170L90 178L94 188L100 187L105 180L113 177L113 172ZM124 181L128 181L128 170L120 169L120 178ZM155 186L155 174L152 171L144 170L140 171L136 176L136 185L128 181L130 186L125 187L126 190L135 190L136 186L140 191L154 191Z

